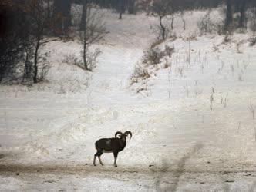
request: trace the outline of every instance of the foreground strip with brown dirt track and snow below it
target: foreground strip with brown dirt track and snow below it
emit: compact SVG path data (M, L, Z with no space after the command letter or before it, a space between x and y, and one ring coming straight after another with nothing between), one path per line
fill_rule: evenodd
M165 170L165 167L93 167L92 165L0 165L3 183L20 191L255 191L256 172ZM120 186L122 186L120 188ZM1 186L0 186L1 187ZM2 188L2 190L4 190Z

